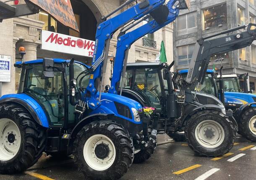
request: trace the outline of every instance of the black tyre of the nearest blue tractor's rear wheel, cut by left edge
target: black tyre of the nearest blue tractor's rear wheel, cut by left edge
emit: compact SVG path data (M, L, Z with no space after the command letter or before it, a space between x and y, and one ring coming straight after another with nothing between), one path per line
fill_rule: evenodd
M10 160L0 160L0 173L13 174L34 165L45 150L45 129L34 122L27 110L16 104L1 104L0 119L10 119L21 134L21 145L17 154Z

